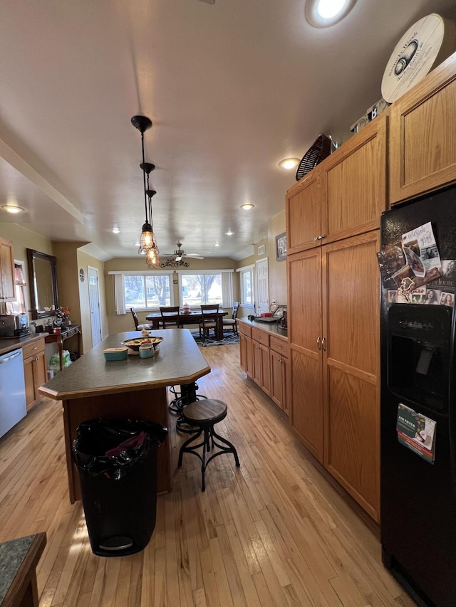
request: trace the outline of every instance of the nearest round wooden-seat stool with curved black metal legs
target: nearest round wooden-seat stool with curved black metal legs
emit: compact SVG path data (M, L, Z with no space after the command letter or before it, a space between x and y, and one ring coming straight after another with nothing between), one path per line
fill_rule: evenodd
M223 436L217 434L214 431L214 426L219 421L227 417L227 405L222 401L216 401L212 398L207 398L205 401L196 401L195 403L191 403L187 405L185 409L182 411L182 419L189 426L194 426L197 428L197 434L190 436L188 440L183 443L179 452L179 462L177 465L182 466L182 455L184 453L193 453L196 455L199 460L201 460L201 473L202 473L202 487L201 490L204 491L206 489L206 484L204 482L204 473L206 472L207 465L211 460L217 458L217 455L222 455L223 453L232 453L234 455L234 461L236 462L237 468L241 465L239 463L239 458L237 457L237 450L234 448L234 445L229 442ZM201 435L202 441L197 443L197 445L190 445L196 441ZM220 442L217 443L217 440ZM207 457L207 452L215 447L219 448L217 453L212 453L209 458ZM202 455L198 453L197 449L202 447Z

